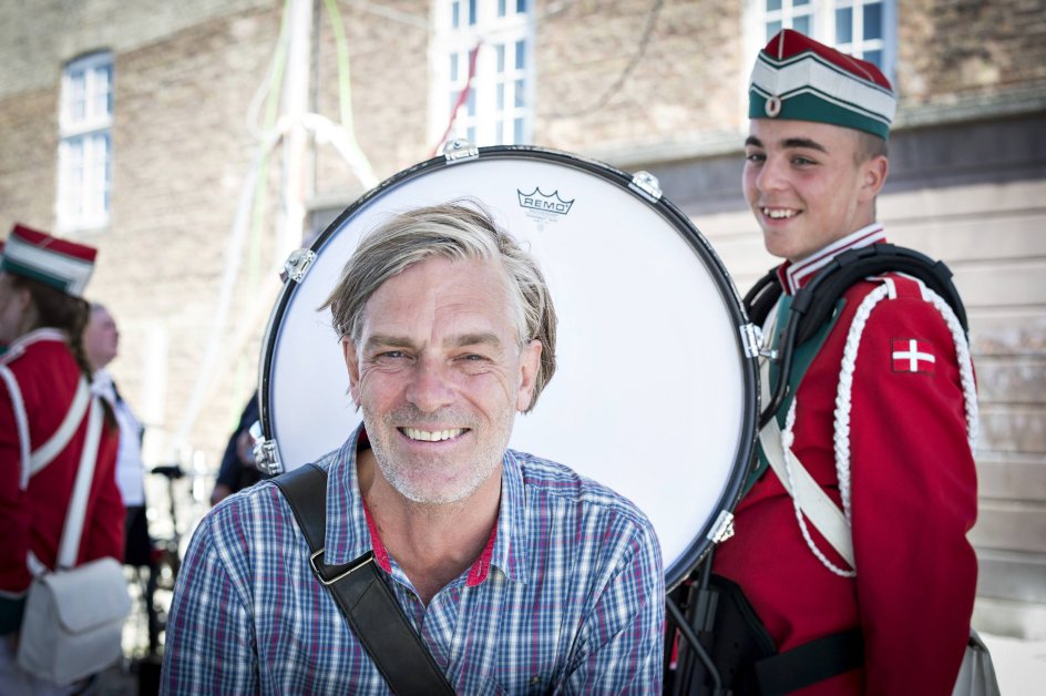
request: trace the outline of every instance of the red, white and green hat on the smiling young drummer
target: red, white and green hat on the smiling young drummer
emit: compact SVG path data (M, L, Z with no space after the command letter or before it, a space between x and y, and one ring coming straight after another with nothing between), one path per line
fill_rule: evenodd
M749 119L832 123L883 140L898 111L890 81L873 63L792 29L759 52L748 96Z

